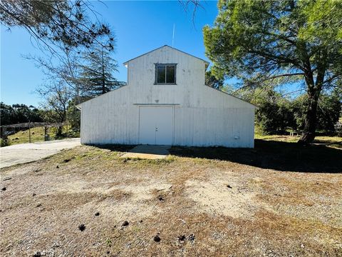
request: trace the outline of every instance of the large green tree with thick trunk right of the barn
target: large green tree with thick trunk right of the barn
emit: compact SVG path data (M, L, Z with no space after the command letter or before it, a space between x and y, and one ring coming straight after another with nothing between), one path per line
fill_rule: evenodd
M303 81L308 105L299 143L313 141L321 91L342 79L342 1L221 0L218 8L214 26L204 27L214 74L237 76L244 86Z

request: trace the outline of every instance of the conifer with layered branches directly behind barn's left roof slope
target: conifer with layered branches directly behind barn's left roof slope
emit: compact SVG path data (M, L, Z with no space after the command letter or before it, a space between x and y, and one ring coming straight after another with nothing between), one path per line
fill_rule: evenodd
M125 82L118 81L113 74L118 71L118 64L111 52L98 46L83 54L86 64L81 65L81 83L86 96L98 96L120 86Z

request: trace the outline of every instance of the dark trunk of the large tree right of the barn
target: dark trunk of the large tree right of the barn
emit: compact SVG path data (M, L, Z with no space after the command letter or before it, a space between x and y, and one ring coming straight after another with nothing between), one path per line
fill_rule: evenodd
M308 145L312 143L315 138L316 125L317 125L317 106L318 106L318 96L321 92L318 89L311 89L308 92L309 104L308 109L306 109L306 117L304 120L304 130L299 138L298 143L302 145Z

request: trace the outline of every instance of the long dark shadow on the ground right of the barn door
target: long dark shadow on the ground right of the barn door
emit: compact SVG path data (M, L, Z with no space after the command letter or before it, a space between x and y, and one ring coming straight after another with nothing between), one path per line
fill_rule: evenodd
M232 161L276 171L342 173L342 150L327 146L256 139L254 149L173 146L169 151L175 156Z

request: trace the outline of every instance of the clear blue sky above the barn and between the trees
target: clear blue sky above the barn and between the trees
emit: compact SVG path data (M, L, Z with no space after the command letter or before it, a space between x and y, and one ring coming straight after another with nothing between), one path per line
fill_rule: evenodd
M119 64L118 80L126 81L123 62L162 45L172 45L172 29L175 24L174 47L206 59L202 27L212 25L217 16L217 2L204 1L204 9L197 9L195 24L192 11L184 11L179 1L93 1L94 9L115 31L116 52ZM41 55L31 44L24 29L1 26L1 101L6 104L38 106L41 99L34 93L43 82L43 73L33 61L22 55ZM209 60L208 60L209 61Z

